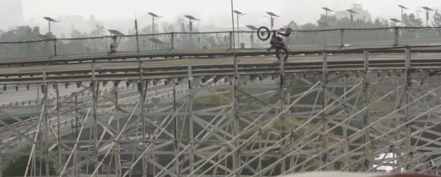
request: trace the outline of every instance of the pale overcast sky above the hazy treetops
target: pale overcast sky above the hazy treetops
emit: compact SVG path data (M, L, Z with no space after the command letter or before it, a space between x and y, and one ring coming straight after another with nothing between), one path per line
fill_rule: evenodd
M361 3L369 10L372 17L400 17L402 4L415 13L421 6L440 8L441 0L235 0L235 10L248 13L239 20L241 24L261 24L269 22L262 15L272 11L281 15L276 26L287 24L290 20L303 24L315 22L326 6L333 10L350 8L352 3ZM59 17L60 15L82 15L87 19L94 15L98 20L141 19L147 12L157 13L164 17L161 21L174 21L179 15L193 15L201 18L200 25L231 24L230 0L22 0L25 21L34 18L34 22L45 22L43 16ZM421 13L421 17L423 14Z

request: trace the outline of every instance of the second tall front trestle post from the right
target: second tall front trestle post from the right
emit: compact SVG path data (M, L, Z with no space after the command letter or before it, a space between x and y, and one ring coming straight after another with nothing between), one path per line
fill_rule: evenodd
M370 96L369 96L369 52L367 50L363 51L363 106L365 107L365 111L363 111L363 127L367 127L370 125L370 118L369 118L369 106L370 104ZM367 143L370 141L370 130L371 128L365 129L364 135L363 135L363 143ZM372 167L372 163L374 162L374 157L372 154L372 147L371 145L365 146L365 153L366 156L368 156L365 159L364 162L364 168L365 170L370 169Z

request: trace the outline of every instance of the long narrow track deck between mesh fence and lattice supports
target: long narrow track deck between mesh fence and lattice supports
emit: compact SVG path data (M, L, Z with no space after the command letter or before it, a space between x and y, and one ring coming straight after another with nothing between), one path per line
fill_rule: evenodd
M434 50L434 49L433 49ZM358 50L357 50L358 51ZM369 68L403 69L405 66L404 50L388 54L370 53ZM441 63L441 53L412 50L412 69L437 69ZM330 51L329 51L330 52ZM342 52L342 51L341 51ZM390 52L390 51L389 51ZM320 53L320 54L319 54ZM323 51L311 55L293 55L283 64L286 73L320 72L323 67ZM201 54L202 55L202 54ZM207 54L205 54L207 55ZM279 73L280 63L274 55L258 52L256 56L238 58L239 75L265 75ZM66 57L69 58L69 57ZM121 59L121 57L119 57ZM70 59L70 58L69 58ZM90 59L90 57L87 57ZM233 57L194 57L192 59L141 59L144 78L169 79L185 78L189 67L195 77L232 76ZM48 83L75 83L92 81L92 68L95 79L99 81L120 81L139 79L137 60L116 60L96 62L75 62L59 64L39 64L25 66L1 66L0 84L35 84L43 82L43 71ZM363 54L327 53L329 71L356 71L363 69Z

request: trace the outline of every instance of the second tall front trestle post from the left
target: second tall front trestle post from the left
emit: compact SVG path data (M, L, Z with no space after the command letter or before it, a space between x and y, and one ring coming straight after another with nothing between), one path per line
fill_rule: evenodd
M97 80L95 78L95 64L92 63L92 103L93 103L93 108L92 108L92 115L93 115L93 134L94 134L94 160L95 162L93 164L95 164L95 168L98 166L98 120L97 120L97 104L98 104L98 91L99 91L99 85L97 84ZM94 175L95 177L98 176L97 173L95 173Z

